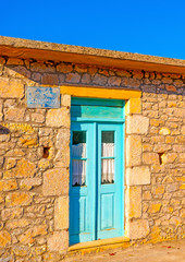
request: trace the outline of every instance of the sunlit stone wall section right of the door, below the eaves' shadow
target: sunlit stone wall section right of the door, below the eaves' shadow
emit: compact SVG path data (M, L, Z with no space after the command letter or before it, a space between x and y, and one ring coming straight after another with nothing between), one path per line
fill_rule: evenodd
M126 117L126 230L146 241L185 234L185 103L143 93Z

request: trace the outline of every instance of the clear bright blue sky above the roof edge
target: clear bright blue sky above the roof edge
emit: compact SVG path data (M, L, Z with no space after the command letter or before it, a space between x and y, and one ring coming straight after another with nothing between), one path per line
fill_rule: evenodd
M0 0L0 35L185 59L185 0Z

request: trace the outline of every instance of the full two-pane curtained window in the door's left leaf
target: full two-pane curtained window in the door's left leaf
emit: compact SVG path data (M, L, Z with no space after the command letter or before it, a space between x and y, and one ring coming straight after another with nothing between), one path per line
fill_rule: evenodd
M86 182L86 131L73 131L72 143L72 186L85 186Z

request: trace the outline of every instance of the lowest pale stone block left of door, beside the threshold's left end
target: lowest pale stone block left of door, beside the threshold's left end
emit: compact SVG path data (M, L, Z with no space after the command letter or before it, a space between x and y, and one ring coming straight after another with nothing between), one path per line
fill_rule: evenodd
M53 231L48 237L48 250L49 251L64 251L69 248L69 233L66 230Z

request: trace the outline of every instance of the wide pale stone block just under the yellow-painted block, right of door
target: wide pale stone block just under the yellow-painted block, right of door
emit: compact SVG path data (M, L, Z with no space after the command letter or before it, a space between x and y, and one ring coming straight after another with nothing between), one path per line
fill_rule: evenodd
M147 134L149 129L149 118L134 115L126 117L126 133L127 134Z

